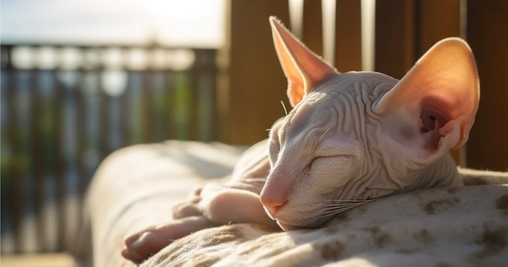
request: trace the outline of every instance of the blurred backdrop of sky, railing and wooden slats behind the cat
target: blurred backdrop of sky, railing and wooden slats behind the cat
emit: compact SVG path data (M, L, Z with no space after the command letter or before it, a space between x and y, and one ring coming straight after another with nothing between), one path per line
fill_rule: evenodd
M504 171L505 14L505 0L0 0L0 256L62 252L121 147L266 138L290 108L271 15L341 72L401 78L435 42L466 39L481 104L453 155Z

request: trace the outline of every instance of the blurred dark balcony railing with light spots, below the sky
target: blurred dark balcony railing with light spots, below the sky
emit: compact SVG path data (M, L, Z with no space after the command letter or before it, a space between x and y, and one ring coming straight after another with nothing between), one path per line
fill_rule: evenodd
M0 44L0 254L61 251L101 160L214 140L216 51Z

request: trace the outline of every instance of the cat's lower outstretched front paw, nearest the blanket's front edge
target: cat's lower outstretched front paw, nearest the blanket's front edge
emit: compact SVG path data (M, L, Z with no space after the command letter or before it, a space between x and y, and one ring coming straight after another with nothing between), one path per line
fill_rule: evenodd
M164 225L151 226L125 239L122 256L139 264L173 241L213 226L216 225L204 216L186 217Z

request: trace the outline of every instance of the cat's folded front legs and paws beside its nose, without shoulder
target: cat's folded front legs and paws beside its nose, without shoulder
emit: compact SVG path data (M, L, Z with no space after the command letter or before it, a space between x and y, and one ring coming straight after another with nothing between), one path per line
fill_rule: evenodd
M241 186L239 186L241 187ZM173 208L173 220L150 226L125 239L122 256L139 263L174 240L199 230L231 223L256 223L278 230L276 222L265 213L259 195L244 189L209 184L199 195Z

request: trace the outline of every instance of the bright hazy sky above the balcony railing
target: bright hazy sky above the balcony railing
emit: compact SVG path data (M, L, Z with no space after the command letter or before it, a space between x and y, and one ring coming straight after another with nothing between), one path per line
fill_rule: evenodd
M217 47L223 25L224 0L0 0L0 42Z

